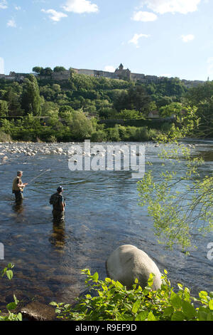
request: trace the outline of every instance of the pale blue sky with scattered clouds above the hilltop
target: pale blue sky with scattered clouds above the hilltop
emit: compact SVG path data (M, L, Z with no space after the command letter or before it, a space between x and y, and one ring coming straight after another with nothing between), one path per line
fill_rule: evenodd
M0 0L0 73L34 66L213 80L213 0Z

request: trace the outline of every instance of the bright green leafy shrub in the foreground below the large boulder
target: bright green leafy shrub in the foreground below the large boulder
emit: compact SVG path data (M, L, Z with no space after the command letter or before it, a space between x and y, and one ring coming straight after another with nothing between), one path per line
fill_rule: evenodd
M174 292L167 272L162 275L163 284L157 291L151 289L154 275L148 279L144 289L136 279L131 290L120 282L110 278L99 280L95 272L82 270L87 275L85 284L93 291L84 297L77 298L77 304L56 303L55 312L58 318L72 321L213 321L213 292L201 291L199 298L190 295L187 287L178 284L178 293ZM193 302L200 306L195 308Z

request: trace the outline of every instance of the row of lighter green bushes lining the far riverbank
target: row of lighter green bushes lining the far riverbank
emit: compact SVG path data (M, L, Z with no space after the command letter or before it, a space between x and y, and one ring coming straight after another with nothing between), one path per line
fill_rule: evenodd
M29 114L18 120L0 120L0 142L10 140L37 142L70 142L90 139L92 142L105 141L146 141L155 140L159 130L144 127L115 125L104 128L97 119L88 119L81 111L67 114L66 120L50 118L40 123Z

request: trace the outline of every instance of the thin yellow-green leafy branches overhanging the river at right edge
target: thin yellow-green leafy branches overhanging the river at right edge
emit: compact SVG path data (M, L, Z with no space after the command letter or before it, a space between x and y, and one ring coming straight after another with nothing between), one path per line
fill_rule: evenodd
M163 144L159 154L160 176L159 172L154 175L150 165L138 182L140 205L146 206L153 218L158 240L170 248L178 244L185 251L191 246L192 232L204 234L213 230L212 173L202 178L199 173L202 158L191 155L190 148L177 142L199 130L196 112L196 108L187 108L187 113L177 118L178 124L173 124L168 134L159 135ZM178 165L181 165L180 177L176 177Z

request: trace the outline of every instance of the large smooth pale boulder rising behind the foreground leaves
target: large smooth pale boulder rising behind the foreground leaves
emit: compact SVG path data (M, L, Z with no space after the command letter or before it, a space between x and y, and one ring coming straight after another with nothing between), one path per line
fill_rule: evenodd
M146 287L151 273L155 274L153 290L161 286L161 274L157 265L146 252L131 244L121 245L111 253L106 262L107 276L118 280L131 289L137 278L141 287Z

